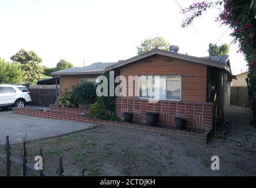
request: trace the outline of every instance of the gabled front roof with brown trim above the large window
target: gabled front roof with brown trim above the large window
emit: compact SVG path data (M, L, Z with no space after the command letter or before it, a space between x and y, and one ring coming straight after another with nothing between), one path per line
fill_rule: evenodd
M147 58L152 55L164 55L164 56L168 56L171 58L177 58L177 59L182 59L182 60L190 61L190 62L194 62L194 63L200 63L202 65L209 65L209 66L214 66L217 68L227 69L226 62L228 61L228 56L221 56L218 58L217 58L217 56L212 56L211 59L209 59L208 57L207 58L206 57L198 58L195 56L184 55L181 53L164 51L162 49L153 49L152 51L142 53L140 55L129 58L125 61L121 61L121 62L115 63L113 65L109 65L109 66L107 66L106 70L116 69L121 66L128 65L129 63L139 61L141 59Z

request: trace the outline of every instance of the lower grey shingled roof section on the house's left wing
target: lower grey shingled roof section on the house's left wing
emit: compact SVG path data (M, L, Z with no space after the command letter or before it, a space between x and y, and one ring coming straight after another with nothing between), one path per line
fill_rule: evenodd
M115 63L92 63L89 66L84 66L84 67L75 67L75 68L70 68L70 69L65 69L65 70L58 70L56 72L52 72L52 76L57 76L57 75L98 75L102 74L105 72L105 68L107 66L111 66Z

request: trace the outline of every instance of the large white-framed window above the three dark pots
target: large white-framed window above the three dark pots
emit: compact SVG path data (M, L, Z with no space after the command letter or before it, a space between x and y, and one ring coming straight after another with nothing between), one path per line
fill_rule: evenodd
M181 76L139 76L139 97L181 100Z

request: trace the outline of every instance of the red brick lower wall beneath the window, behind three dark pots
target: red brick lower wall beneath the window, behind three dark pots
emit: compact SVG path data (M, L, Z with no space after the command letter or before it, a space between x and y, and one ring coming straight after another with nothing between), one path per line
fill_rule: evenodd
M187 118L187 126L197 129L212 129L212 103L173 102L160 100L149 103L147 99L117 98L116 112L134 112L134 120L146 121L146 112L159 112L159 124L175 126L174 117Z

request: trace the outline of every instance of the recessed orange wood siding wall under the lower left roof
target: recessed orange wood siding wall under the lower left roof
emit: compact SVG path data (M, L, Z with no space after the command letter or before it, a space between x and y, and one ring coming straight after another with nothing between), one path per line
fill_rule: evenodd
M59 79L61 92L65 89L71 90L71 85L76 85L81 78L97 78L99 75L70 75L70 76L61 76Z

